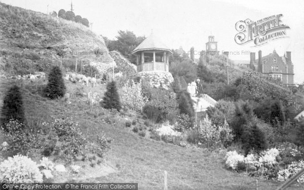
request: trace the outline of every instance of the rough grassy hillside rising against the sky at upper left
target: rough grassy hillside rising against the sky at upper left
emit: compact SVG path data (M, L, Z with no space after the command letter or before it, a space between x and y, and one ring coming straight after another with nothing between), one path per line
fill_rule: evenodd
M48 71L60 65L74 70L75 56L89 62L112 63L103 39L86 26L43 13L0 3L0 73ZM101 52L96 55L95 50Z

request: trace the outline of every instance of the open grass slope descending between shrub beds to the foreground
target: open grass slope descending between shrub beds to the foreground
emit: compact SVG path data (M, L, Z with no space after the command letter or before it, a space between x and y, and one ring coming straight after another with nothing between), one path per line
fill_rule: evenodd
M69 89L77 88L77 84L67 85ZM7 81L0 82L0 91L5 92L8 86L10 83ZM100 178L89 178L84 182L138 182L139 189L162 189L163 172L166 170L169 189L255 189L255 178L226 170L220 153L142 138L123 127L124 118L128 118L128 115L112 116L99 106L90 108L77 100L71 100L71 104L63 100L51 101L25 89L22 91L29 121L47 121L51 116L72 116L85 133L98 136L104 132L114 139L105 162L117 168L118 172ZM0 106L3 95L0 94ZM102 114L96 117L97 112ZM116 123L105 123L106 117L112 118ZM259 181L259 189L275 189L278 185L279 182Z

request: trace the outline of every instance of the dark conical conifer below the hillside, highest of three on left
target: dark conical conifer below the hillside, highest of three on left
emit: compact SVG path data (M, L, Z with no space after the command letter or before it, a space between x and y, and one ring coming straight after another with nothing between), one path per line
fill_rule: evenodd
M65 94L65 85L59 66L54 66L49 74L49 82L45 88L45 96L51 99L63 97Z

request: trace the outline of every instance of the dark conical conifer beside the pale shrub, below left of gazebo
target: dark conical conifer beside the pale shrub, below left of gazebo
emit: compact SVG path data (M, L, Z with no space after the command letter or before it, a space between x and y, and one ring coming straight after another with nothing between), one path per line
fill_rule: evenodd
M114 108L119 111L122 108L115 81L107 84L102 103L106 109Z

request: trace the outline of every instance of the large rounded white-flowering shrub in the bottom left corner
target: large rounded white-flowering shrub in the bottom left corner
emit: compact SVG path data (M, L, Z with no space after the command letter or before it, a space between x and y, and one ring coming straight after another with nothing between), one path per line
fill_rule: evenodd
M35 162L25 156L9 157L0 164L0 182L34 183L43 182L43 175Z

